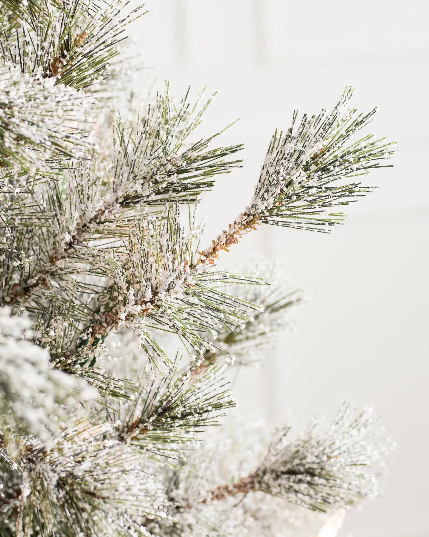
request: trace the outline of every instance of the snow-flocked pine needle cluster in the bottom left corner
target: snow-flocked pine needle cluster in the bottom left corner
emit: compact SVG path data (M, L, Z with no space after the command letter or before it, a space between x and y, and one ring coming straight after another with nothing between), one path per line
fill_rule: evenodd
M28 438L12 469L20 474L17 490L4 491L0 520L10 507L18 513L12 530L29 535L147 536L142 519L165 517L168 506L160 483L143 469L136 449L108 438L111 427L82 422L64 431L54 446ZM21 533L22 532L22 533ZM117 533L116 533L117 532ZM38 534L38 533L36 533Z

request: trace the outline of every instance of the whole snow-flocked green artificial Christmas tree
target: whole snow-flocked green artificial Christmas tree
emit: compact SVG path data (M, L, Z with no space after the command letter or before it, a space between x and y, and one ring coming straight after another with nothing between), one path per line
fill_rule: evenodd
M261 224L341 223L393 154L360 134L375 110L346 89L332 112L294 113L249 205L202 248L198 201L242 146L199 138L210 99L175 104L168 85L115 112L115 58L144 9L0 4L0 537L335 532L393 445L348 403L295 438L234 414L230 372L302 296L275 267L219 258Z

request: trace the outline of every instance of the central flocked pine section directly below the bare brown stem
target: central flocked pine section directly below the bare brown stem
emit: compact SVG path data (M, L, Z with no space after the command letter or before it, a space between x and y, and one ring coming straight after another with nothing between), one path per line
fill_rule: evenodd
M94 360L94 351L107 333L121 325L132 328L146 349L168 363L168 357L145 326L177 333L197 353L211 348L205 333L220 332L249 320L257 306L225 293L221 287L240 283L259 285L254 277L229 274L215 267L194 263L200 231L190 222L184 235L179 205L167 208L165 218L137 226L129 242L127 257L112 276L112 284L100 294L94 315L80 331L71 349L58 358L61 367L84 365ZM87 354L89 353L89 354Z

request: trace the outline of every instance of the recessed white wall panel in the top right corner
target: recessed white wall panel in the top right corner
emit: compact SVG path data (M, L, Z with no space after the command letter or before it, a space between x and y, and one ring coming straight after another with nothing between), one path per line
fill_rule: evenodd
M398 52L420 53L427 47L424 2L282 2L258 0L263 8L265 55L270 64L307 59L360 57L377 63Z

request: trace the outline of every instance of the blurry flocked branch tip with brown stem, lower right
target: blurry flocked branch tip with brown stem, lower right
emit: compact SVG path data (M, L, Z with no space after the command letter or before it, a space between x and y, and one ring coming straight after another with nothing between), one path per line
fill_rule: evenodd
M199 503L262 491L318 511L350 508L378 494L375 475L365 468L380 465L395 447L374 430L372 410L357 413L344 403L326 433L313 420L303 437L289 444L286 426L264 454L254 473L206 492ZM190 506L189 506L190 507Z

